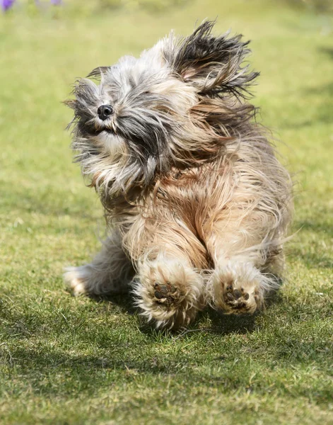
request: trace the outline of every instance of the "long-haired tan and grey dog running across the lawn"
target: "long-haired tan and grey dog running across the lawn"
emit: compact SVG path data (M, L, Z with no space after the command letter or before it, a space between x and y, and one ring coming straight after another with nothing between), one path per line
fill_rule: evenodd
M291 177L250 103L249 42L214 24L94 69L66 101L109 236L64 279L74 295L132 291L157 328L206 305L253 314L284 273Z

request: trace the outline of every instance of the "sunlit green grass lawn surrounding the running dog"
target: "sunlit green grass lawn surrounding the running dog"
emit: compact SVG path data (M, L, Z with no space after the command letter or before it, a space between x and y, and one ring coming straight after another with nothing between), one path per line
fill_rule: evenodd
M0 16L1 424L333 424L333 24L282 1L157 14L74 6ZM76 77L216 18L252 39L261 119L296 174L288 282L257 317L153 331L125 300L71 297L103 211L71 163Z

